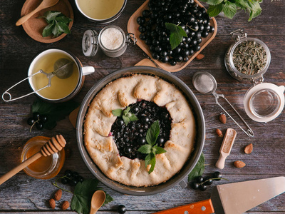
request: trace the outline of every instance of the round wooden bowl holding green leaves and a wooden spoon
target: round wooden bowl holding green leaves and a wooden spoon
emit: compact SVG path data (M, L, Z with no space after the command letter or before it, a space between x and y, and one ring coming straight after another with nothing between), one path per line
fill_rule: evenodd
M30 13L31 11L36 9L36 7L39 4L41 4L41 0L27 0L24 3L24 6L21 10L21 16L24 16L24 15ZM52 36L43 37L42 36L43 29L48 24L46 22L46 19L43 19L43 18L38 19L38 17L43 16L43 14L46 11L60 11L66 17L71 18L72 21L69 22L69 25L68 25L68 28L71 29L71 26L73 25L73 19L74 19L73 9L72 9L71 4L69 3L68 0L59 0L56 5L51 6L47 9L43 9L42 11L38 11L38 13L31 16L31 18L28 19L28 21L26 21L23 24L24 30L26 31L28 36L30 36L32 39L39 41L39 42L42 42L42 43L53 43L53 42L56 42L56 41L63 39L63 37L66 36L67 34L61 34L58 37L52 37Z

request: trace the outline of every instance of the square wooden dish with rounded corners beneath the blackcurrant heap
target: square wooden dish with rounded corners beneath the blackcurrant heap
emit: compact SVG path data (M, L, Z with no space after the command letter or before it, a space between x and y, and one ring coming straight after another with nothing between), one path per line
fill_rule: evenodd
M199 3L199 1L197 0L194 1L199 6L204 7L202 6L202 4ZM149 0L145 1L145 3L143 3L142 6L140 6L140 8L137 11L135 11L135 13L132 16L130 16L130 19L128 21L128 32L135 35L135 38L137 39L137 44L140 47L140 49L142 49L142 51L145 51L145 54L150 56L150 58L157 64L157 66L164 69L165 71L170 71L170 72L180 71L183 68L185 68L193 60L193 58L195 58L207 46L207 44L209 44L209 42L212 41L212 39L214 39L214 36L216 36L217 34L217 21L214 18L210 19L210 25L214 26L214 31L210 33L209 36L207 36L207 38L202 38L202 43L200 44L201 49L199 51L192 54L192 56L188 61L180 62L177 63L175 66L171 66L170 63L162 63L161 61L153 59L149 47L145 44L145 41L142 41L140 39L140 31L138 31L138 27L140 25L137 23L137 19L139 16L142 16L142 11L149 9L148 2Z

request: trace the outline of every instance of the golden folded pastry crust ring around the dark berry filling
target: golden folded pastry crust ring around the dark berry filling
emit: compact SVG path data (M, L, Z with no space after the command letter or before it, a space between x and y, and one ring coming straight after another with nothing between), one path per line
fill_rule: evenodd
M135 158L120 157L112 136L108 136L116 116L112 110L125 108L137 99L165 106L172 118L166 153L156 155L155 169ZM90 103L84 123L86 149L108 178L133 186L150 186L169 180L179 172L194 149L195 118L183 94L171 83L158 78L135 74L118 78L103 88Z

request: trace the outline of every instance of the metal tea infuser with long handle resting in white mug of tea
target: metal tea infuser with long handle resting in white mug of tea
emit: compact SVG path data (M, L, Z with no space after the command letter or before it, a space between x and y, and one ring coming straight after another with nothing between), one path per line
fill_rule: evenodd
M66 61L59 61L59 60L66 60ZM40 88L36 91L33 91L31 93L28 93L24 96L20 96L18 98L13 98L12 99L12 96L11 96L11 93L9 93L8 91L11 90L11 88L8 88L3 94L2 94L2 99L5 101L5 102L10 102L10 101L16 101L18 99L21 99L21 98L24 98L26 96L29 96L33 93L36 93L38 91L41 91L43 90L44 88L48 88L48 87L51 87L51 78L53 78L53 76L57 76L58 78L68 78L69 76L71 76L72 74L72 71L73 71L73 61L69 61L68 59L66 58L60 58L58 61L56 61L53 65L54 68L56 68L55 71L51 72L51 73L46 73L45 71L43 70L39 70L38 72L36 73L33 73L32 75L28 76L27 78L24 78L23 80L19 81L18 83L16 83L14 86L11 86L11 88L14 88L15 86L19 85L19 83L22 83L23 81L26 81L28 78L31 78L35 75L37 75L38 73L43 73L46 75L46 78L48 78L48 84L46 86L44 86L43 88ZM66 68L66 69L65 69ZM9 96L9 99L5 99L4 96L5 95L8 95Z

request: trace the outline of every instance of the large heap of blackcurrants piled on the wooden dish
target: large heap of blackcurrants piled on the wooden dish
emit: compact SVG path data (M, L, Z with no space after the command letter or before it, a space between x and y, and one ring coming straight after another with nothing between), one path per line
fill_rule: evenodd
M210 25L209 15L204 7L194 0L150 0L149 9L142 11L137 19L140 25L140 39L149 46L152 58L162 63L175 66L201 49L202 37L206 38L214 31ZM187 37L172 49L170 30L165 23L181 26Z

